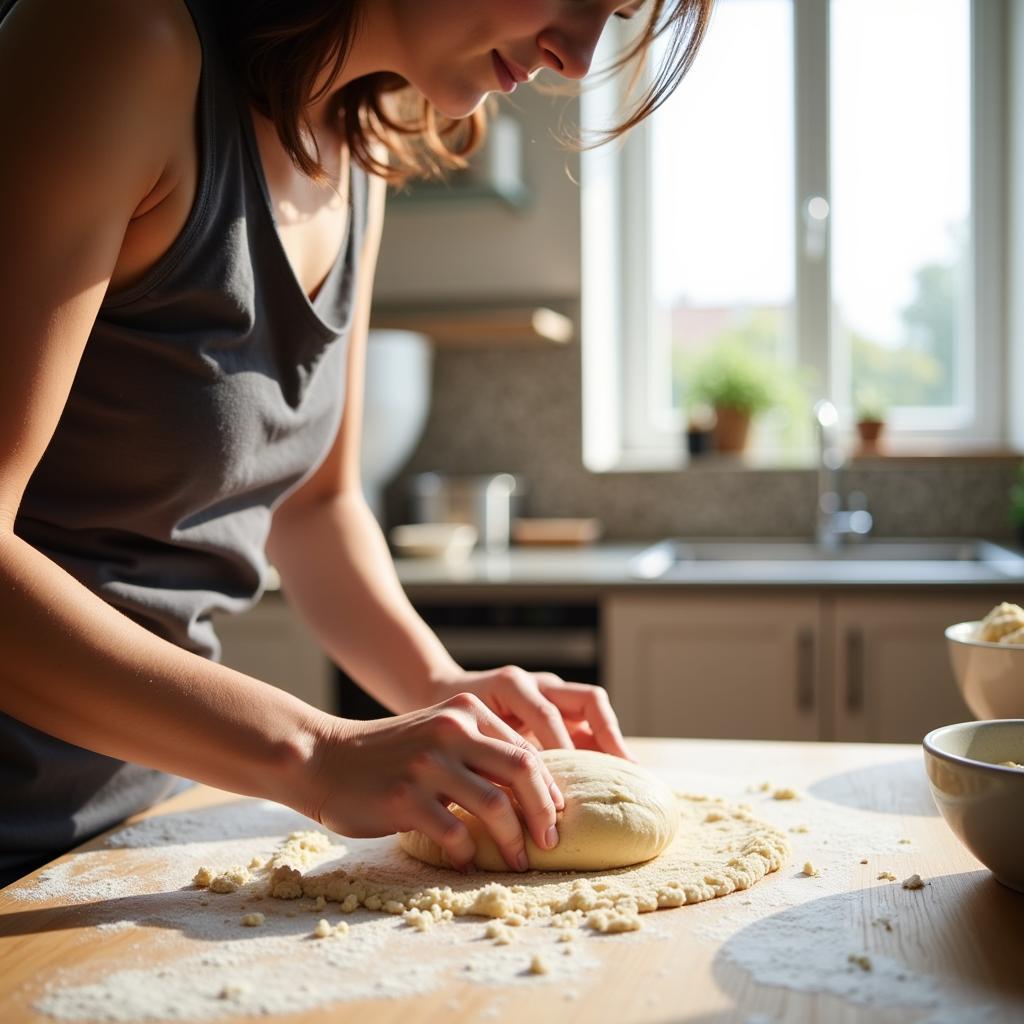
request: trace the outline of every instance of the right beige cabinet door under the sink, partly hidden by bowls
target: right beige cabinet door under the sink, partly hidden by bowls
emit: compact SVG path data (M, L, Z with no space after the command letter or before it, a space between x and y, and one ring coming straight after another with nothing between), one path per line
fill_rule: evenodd
M916 743L940 725L970 722L944 631L1015 599L1006 592L827 599L834 602L835 737Z

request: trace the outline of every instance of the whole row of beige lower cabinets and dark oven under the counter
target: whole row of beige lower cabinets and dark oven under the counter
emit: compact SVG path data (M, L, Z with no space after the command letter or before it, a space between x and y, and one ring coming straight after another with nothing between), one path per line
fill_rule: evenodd
M488 608L508 605L501 587L460 598L460 607L478 612L460 630L437 618L437 607L424 611L467 666L511 662L600 680L627 734L919 742L938 725L973 717L953 681L945 627L980 618L1001 600L1024 600L1019 587L594 588L590 594L589 605L579 595L577 603L600 602L599 618L595 612L593 622L572 620L571 630L526 631L534 647L537 638L546 644L532 660L523 630L513 628L518 620L507 611L494 623L484 616L489 625L480 628ZM534 609L531 624L546 610L550 617L556 606L567 607L536 588L517 600ZM374 717L357 714L351 699L339 709L343 691L334 666L281 593L268 592L245 615L218 618L217 630L225 665L317 708ZM489 645L486 653L477 650L481 644ZM591 668L584 671L584 663Z

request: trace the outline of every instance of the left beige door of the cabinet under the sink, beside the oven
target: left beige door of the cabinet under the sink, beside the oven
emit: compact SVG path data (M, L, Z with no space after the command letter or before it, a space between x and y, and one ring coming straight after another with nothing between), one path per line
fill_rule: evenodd
M611 595L603 622L604 682L628 734L818 737L816 597Z

